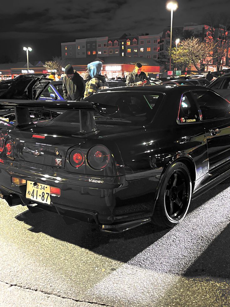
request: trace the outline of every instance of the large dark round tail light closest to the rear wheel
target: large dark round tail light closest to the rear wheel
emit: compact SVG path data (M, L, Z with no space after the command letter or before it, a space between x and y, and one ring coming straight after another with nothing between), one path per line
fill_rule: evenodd
M109 164L110 152L103 145L93 146L87 155L88 165L96 171L103 170Z

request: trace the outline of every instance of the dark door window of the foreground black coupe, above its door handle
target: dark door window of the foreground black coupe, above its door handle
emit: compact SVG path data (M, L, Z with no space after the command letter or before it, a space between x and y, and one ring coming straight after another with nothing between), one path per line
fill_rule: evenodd
M230 103L211 91L193 91L200 107L203 120L230 116Z

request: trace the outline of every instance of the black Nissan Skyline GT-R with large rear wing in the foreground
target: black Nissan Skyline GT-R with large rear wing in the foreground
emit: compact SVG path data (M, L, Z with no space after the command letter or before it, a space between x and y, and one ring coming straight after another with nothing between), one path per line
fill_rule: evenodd
M230 177L230 103L194 85L102 90L79 102L0 100L0 197L102 231L173 227ZM65 110L33 123L28 109Z

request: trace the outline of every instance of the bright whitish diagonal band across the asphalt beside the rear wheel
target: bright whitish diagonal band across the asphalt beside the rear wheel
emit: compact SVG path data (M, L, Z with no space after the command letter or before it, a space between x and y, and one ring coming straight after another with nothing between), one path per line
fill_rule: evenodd
M230 188L188 214L184 221L98 283L88 294L111 305L153 305L230 222Z

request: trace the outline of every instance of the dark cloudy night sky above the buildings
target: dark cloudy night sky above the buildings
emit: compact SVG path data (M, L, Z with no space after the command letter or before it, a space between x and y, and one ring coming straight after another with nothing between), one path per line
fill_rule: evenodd
M61 42L76 38L157 34L170 25L166 0L1 1L0 63L61 55ZM230 12L230 0L178 0L173 25L205 23L207 13Z

